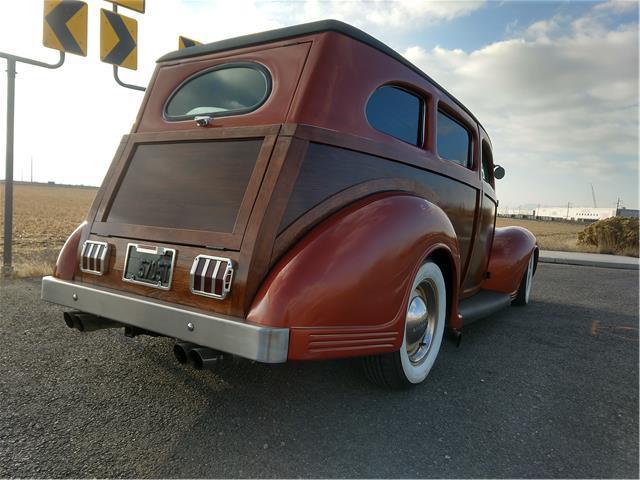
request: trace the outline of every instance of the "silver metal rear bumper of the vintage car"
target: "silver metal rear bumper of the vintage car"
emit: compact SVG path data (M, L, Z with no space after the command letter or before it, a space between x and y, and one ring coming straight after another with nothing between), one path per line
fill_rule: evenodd
M288 328L261 327L239 318L51 276L42 279L42 299L259 362L287 360Z

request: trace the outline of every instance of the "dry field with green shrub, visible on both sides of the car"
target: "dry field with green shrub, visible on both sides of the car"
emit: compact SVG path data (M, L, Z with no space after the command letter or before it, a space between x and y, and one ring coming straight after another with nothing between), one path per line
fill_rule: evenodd
M13 266L16 276L53 272L67 236L84 220L96 188L59 185L14 185ZM0 205L4 185L0 184ZM3 211L4 207L0 207ZM4 219L2 219L4 223ZM498 218L497 226L529 229L543 250L616 253L638 256L638 220L609 219L586 226L575 222L545 222ZM634 223L635 221L635 223ZM0 224L1 225L1 224ZM0 227L0 231L1 231ZM4 249L0 235L0 256Z

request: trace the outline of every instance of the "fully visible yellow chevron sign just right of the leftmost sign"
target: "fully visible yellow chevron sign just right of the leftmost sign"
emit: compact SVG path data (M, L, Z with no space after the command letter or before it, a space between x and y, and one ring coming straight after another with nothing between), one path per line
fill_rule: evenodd
M100 10L100 60L119 67L138 68L138 22Z

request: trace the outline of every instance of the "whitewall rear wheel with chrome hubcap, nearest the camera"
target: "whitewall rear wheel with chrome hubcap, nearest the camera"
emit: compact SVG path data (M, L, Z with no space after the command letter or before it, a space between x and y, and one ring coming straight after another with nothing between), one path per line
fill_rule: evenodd
M364 358L365 374L385 387L406 387L421 383L436 361L447 311L447 292L442 271L427 261L416 274L400 350Z

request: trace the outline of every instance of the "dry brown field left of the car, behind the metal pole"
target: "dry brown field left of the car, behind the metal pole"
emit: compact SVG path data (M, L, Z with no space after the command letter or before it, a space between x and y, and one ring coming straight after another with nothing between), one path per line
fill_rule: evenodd
M49 274L69 234L86 217L97 189L56 185L13 187L13 267L20 277ZM0 185L4 212L4 184ZM2 218L4 228L4 218ZM4 250L0 238L0 252Z

